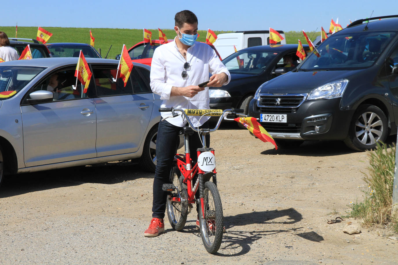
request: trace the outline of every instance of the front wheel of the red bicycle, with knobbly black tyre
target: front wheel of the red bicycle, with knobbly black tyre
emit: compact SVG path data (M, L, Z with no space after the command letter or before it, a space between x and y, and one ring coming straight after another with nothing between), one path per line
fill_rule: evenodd
M216 253L221 245L224 217L219 190L213 182L205 183L204 205L199 206L199 228L207 252ZM203 219L202 208L205 211Z

